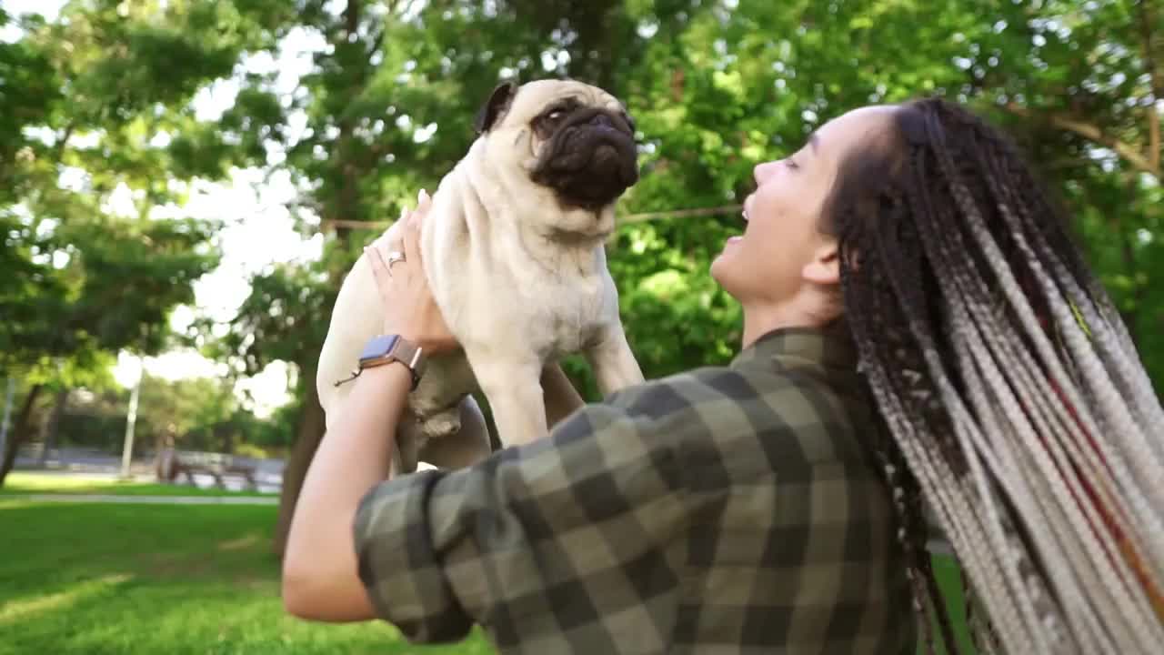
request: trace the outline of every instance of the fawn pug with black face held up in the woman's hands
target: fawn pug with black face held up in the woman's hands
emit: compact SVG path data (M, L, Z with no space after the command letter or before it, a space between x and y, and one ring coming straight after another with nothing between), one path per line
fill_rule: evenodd
M602 89L554 79L499 85L475 126L420 228L425 274L461 350L428 359L397 430L395 473L484 458L478 390L503 446L548 434L540 376L563 355L584 353L603 394L643 381L604 251L615 203L638 182L633 120ZM340 382L383 324L368 256L340 288L319 357L328 428L352 386Z

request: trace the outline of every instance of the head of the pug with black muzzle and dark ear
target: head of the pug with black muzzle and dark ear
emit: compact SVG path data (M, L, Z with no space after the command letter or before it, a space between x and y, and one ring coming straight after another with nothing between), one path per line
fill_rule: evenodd
M563 211L609 213L639 179L634 121L617 98L574 80L502 84L477 115L491 162L516 164Z

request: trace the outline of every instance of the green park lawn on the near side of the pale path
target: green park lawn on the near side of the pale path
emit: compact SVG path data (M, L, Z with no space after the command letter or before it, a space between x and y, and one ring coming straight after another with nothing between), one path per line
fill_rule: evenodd
M271 506L0 498L0 655L494 653L417 647L383 622L288 617Z

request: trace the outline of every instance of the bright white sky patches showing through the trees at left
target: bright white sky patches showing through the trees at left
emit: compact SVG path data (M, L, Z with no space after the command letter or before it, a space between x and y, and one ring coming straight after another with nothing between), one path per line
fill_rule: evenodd
M20 15L40 13L54 20L64 5L63 0L3 0L6 12ZM20 30L9 26L0 29L0 40L20 38ZM310 70L311 51L319 48L318 36L306 31L293 31L283 43L278 57L251 57L244 62L246 70L265 72L277 70L278 89L290 92L298 85L300 75ZM225 80L203 90L194 99L194 108L200 119L213 120L230 107L239 91L233 80ZM292 128L301 128L303 117L292 117ZM62 183L68 184L70 171L63 171ZM285 209L285 203L296 195L289 177L275 175L264 181L263 171L246 169L233 171L225 184L196 183L190 202L179 211L187 216L218 218L227 224L219 234L222 263L212 274L203 277L194 287L194 307L180 307L172 317L176 329L184 329L198 315L210 315L219 319L233 316L249 293L247 279L265 267L296 260L318 259L322 248L322 237L303 239ZM108 210L130 212L132 195L128 189L114 192ZM173 211L177 207L170 207ZM159 214L168 213L163 209ZM147 358L149 375L180 379L213 376L225 373L225 365L212 362L193 351L173 351L157 358ZM136 358L121 353L114 375L122 385L130 386L139 371ZM249 390L255 403L253 409L260 416L268 415L276 407L288 402L288 367L282 364L268 366L260 375L240 382L236 392ZM148 380L147 380L148 383Z

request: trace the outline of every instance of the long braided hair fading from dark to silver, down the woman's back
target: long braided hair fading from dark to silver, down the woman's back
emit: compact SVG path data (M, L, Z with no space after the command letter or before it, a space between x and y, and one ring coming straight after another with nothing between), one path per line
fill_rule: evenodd
M927 512L980 649L1158 652L1164 411L1015 146L954 104L902 105L824 221L930 649L932 621L957 652Z

